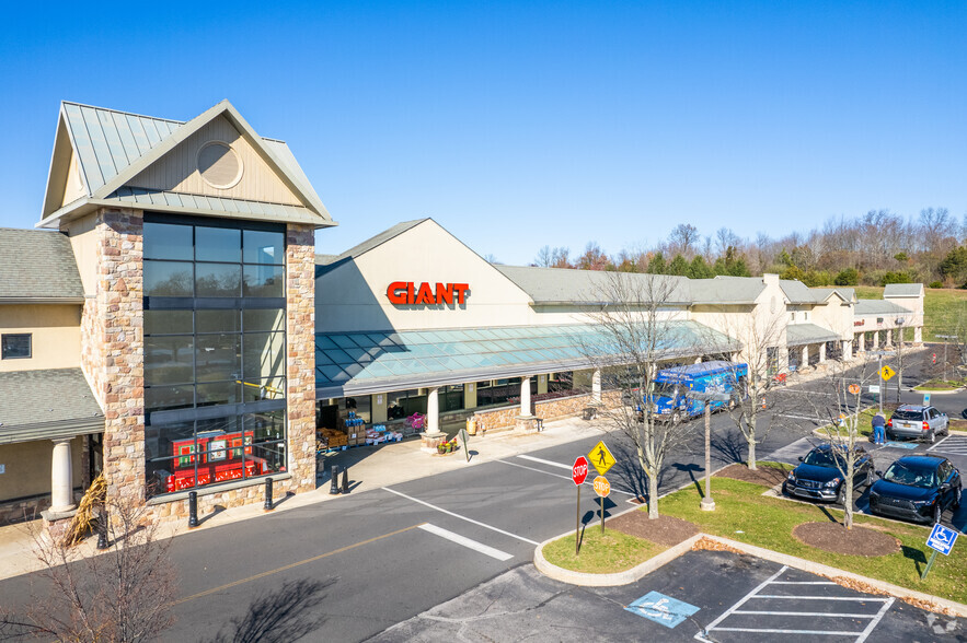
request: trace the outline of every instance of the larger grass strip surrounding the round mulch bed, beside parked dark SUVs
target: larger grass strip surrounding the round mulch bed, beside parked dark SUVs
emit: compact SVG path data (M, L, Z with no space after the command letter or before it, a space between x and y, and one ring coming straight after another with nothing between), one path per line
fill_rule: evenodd
M699 508L701 495L694 487L663 498L659 508L663 514L691 521L706 534L967 603L967 547L955 546L951 556L939 556L926 581L920 581L920 571L932 551L925 545L929 529L870 516L855 516L855 525L876 528L896 537L901 543L900 551L876 558L830 553L799 542L793 538L792 530L802 523L828 521L829 516L842 519L842 512L828 506L767 498L762 495L765 490L760 484L715 478L712 482L716 506L714 512ZM574 546L573 540L571 545Z

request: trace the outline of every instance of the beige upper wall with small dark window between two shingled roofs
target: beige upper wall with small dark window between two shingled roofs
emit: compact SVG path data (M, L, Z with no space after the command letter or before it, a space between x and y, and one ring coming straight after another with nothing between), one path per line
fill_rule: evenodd
M0 335L30 332L32 356L0 360L0 372L76 369L81 365L81 306L0 305Z

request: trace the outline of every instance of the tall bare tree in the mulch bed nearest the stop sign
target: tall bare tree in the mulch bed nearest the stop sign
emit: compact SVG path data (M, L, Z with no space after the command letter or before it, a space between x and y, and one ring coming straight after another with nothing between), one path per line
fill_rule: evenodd
M667 311L680 296L677 289L681 282L663 274L609 273L595 295L606 304L590 314L597 332L591 339L579 340L585 356L601 371L602 385L621 395L622 404L602 414L634 445L647 479L649 518L658 517L658 479L665 459L692 431L688 424L663 421L656 414L649 400L658 364L734 348L721 335L718 346L702 346L709 338L694 332L693 323L671 318Z

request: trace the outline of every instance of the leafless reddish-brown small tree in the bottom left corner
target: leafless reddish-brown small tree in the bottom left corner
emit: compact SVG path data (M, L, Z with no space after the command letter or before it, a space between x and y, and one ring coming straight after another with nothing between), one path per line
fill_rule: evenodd
M0 634L5 627L10 633L62 642L129 643L154 640L171 627L171 539L156 539L156 524L141 503L108 500L106 510L103 553L34 533L45 592L31 596L20 612L0 609Z

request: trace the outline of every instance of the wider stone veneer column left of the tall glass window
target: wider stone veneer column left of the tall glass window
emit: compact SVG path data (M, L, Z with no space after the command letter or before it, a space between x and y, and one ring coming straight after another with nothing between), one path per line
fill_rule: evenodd
M145 498L145 334L140 210L94 214L97 283L84 302L81 366L104 410L108 498Z

